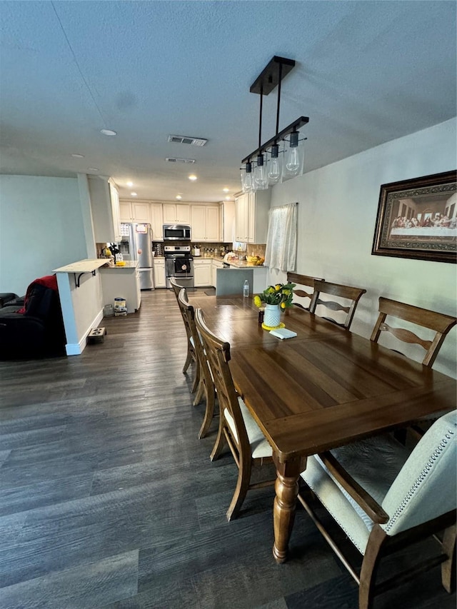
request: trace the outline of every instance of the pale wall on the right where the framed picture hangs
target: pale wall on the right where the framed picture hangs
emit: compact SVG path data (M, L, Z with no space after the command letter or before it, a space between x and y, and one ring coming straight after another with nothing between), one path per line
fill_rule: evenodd
M351 326L362 336L371 334L381 295L456 315L455 264L371 255L381 184L456 169L456 131L452 119L273 187L272 206L299 203L296 271L366 288ZM284 277L270 273L276 279ZM456 334L454 327L433 366L453 377ZM421 360L417 349L401 346Z

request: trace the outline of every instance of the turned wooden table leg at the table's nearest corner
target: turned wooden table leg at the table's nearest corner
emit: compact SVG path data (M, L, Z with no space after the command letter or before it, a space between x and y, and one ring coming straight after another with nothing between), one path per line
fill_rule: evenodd
M295 518L296 500L298 495L298 476L306 466L303 460L297 458L287 463L280 463L273 454L276 465L276 497L273 506L274 545L273 556L276 563L287 559L288 540L291 536Z

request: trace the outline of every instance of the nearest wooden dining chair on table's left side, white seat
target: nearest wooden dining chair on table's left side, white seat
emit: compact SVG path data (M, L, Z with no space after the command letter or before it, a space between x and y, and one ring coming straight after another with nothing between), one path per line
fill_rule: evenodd
M227 443L238 466L238 480L227 511L227 520L232 520L238 515L248 490L275 483L276 477L251 483L252 468L273 463L273 451L243 399L236 393L229 367L230 344L215 336L206 326L201 308L196 309L195 323L208 356L219 401L219 431L211 461L219 457Z

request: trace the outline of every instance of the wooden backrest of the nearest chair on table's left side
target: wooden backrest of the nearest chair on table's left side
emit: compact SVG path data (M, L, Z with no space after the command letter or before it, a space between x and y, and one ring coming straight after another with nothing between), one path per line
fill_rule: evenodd
M241 414L238 403L238 395L235 386L233 385L233 378L231 377L229 368L230 344L222 341L211 332L208 326L206 326L204 313L201 308L197 308L195 311L195 323L206 351L211 372L213 373L214 386L216 387L219 399L221 416L223 416L224 409L226 408L233 418L233 423L236 428L237 437L233 437L232 441L236 445L238 453L240 455L244 454L245 456L250 455L251 447L249 445L248 434L246 432L243 415Z

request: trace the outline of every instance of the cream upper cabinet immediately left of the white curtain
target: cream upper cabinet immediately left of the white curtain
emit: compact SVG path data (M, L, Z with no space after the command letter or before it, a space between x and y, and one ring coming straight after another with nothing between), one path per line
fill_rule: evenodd
M266 243L270 191L242 193L235 201L235 241Z

